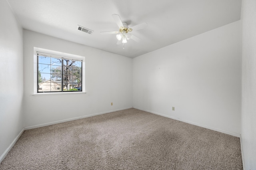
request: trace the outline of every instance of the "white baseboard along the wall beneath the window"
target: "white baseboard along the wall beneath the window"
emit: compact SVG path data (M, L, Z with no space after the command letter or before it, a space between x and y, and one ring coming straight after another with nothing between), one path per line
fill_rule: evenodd
M50 122L50 123L44 123L44 124L40 124L40 125L34 125L34 126L30 126L30 127L25 127L24 130L28 130L28 129L32 129L32 128L38 128L38 127L45 127L45 126L54 125L54 124L57 124L57 123L68 122L68 121L74 121L74 120L83 119L83 118L86 118L86 117L92 117L92 116L97 116L97 115L103 115L103 114L106 114L106 113L111 113L111 112L116 112L116 111L122 111L122 110L130 109L130 108L132 108L132 107L127 107L127 108L122 108L122 109L116 109L116 110L107 111L107 112L102 112L102 113L95 113L95 114L92 114L92 115L86 115L86 116L82 116L82 117L75 117L75 118L71 118L71 119L64 119L64 120L61 120L61 121L55 121L55 122Z

